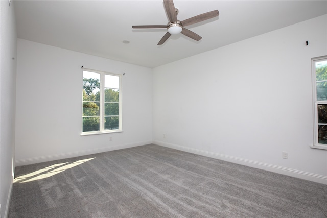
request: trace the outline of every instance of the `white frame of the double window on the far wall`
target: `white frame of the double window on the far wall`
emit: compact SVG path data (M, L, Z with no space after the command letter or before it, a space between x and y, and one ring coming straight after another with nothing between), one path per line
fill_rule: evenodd
M100 71L100 70L94 70L94 69L87 69L87 68L82 68L82 78L83 78L83 71L88 71L88 72L96 72L100 74L100 130L99 131L89 131L89 132L83 132L83 95L82 95L82 105L81 105L81 136L85 135L98 135L98 134L108 134L108 133L118 133L118 132L123 132L123 116L122 116L122 111L123 111L123 103L122 103L122 96L123 96L123 89L122 89L122 75L121 74L114 74L112 72L105 72L105 71ZM102 82L104 81L105 75L112 75L112 76L118 76L119 77L119 111L118 111L118 129L115 130L105 130L104 129L104 93L105 93L105 83ZM82 89L83 89L83 84L82 84Z

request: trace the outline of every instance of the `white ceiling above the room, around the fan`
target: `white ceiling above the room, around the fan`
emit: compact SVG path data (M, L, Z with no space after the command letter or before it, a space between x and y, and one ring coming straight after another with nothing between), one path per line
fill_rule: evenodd
M178 34L157 45L167 29L132 25L167 25L162 0L13 2L18 38L151 68L327 14L327 1L176 0L181 21L220 15L186 27L200 41Z

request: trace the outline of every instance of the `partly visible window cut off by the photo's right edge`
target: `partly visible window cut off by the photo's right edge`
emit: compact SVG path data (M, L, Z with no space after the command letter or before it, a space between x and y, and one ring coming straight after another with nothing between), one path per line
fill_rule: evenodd
M312 59L314 144L327 149L327 56Z

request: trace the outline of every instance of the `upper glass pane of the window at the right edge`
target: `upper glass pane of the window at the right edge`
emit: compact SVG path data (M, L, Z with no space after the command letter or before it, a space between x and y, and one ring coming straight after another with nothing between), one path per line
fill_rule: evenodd
M316 62L317 100L327 100L327 61Z

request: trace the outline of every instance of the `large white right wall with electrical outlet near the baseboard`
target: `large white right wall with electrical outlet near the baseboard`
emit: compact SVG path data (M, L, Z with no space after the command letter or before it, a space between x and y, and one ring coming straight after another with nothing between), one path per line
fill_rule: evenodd
M327 150L309 147L323 55L327 15L154 68L154 143L327 184Z

